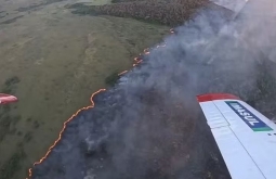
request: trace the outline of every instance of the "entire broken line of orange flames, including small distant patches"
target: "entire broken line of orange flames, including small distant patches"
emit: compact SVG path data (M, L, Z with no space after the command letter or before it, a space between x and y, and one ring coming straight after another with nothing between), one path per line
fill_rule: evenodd
M174 33L173 28L171 28L170 31L173 34L173 33ZM162 48L166 47L166 42L165 42L163 44L156 46L156 48L160 48L160 47L162 47ZM147 49L144 50L144 54L149 54L149 48L147 48ZM141 53L140 53L140 56L142 56ZM143 62L142 59L135 57L135 59L134 59L134 63L133 63L133 67L136 66L136 65L139 65L139 64L141 64L142 62ZM129 72L129 71L123 71L123 72L119 73L118 76L121 76L121 75L123 75L123 74L126 74L126 73L128 73L128 72ZM71 115L70 118L68 118L68 119L63 124L63 129L60 131L58 138L57 138L57 139L54 141L54 143L48 149L48 152L45 153L45 155L42 156L39 161L37 161L37 162L34 163L34 166L41 164L41 163L48 157L48 155L52 152L53 148L54 148L54 146L57 144L57 142L62 139L62 135L63 135L63 132L64 132L64 130L65 130L65 128L66 128L66 125L67 125L70 120L73 120L74 117L76 117L80 112L86 111L86 110L89 110L89 108L93 108L93 107L95 106L95 103L94 103L94 101L93 101L94 95L98 94L100 92L104 92L104 91L106 91L106 89L100 89L100 90L97 90L96 92L92 93L92 95L91 95L91 98L90 98L91 104L90 104L89 106L86 106L86 107L82 107L82 108L78 110L74 115ZM28 177L27 177L26 179L30 179L30 177L32 176L32 168L29 168L28 171L29 171L29 174L28 174Z

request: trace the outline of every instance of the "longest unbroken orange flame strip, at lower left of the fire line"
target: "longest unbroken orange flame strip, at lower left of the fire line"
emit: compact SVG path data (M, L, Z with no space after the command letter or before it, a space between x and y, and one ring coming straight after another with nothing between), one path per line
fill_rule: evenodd
M93 108L95 106L95 103L93 101L93 98L95 94L100 93L100 92L103 92L103 91L106 91L106 89L100 89L97 90L96 92L94 92L91 98L90 98L90 101L91 101L91 104L87 107L82 107L80 110L78 110L70 118L68 118L64 124L63 124L63 129L61 130L60 135L58 135L58 138L54 141L54 143L49 148L48 152L45 153L45 155L43 157L41 157L39 161L35 162L34 163L34 166L38 165L38 164L41 164L47 157L48 155L52 152L53 148L56 145L56 143L62 139L62 135L66 128L66 125L67 123L69 123L74 117L76 117L80 112L84 111L84 110L88 110L88 108ZM29 168L29 176L28 178L30 178L32 176L32 169ZM28 179L26 178L26 179Z

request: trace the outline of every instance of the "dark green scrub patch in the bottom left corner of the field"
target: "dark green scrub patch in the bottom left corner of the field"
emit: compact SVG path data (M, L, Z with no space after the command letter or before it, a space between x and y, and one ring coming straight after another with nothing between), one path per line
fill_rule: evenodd
M22 166L22 159L26 156L23 149L16 151L0 168L0 179L11 179Z

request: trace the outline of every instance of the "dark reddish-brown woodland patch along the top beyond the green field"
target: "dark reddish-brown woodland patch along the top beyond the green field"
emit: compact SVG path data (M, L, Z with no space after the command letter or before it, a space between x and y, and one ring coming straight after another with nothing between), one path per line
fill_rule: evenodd
M119 17L133 17L149 23L160 23L169 26L182 25L190 20L198 9L211 7L219 9L227 14L229 10L218 7L208 0L149 0L149 1L131 1L115 0L114 4L106 5L80 5L74 4L70 8L76 9L73 13L93 14L93 15L113 15ZM117 3L120 2L120 3Z

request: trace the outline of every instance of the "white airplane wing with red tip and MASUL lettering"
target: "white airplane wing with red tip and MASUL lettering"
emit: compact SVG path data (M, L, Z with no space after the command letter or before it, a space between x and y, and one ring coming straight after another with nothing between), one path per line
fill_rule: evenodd
M276 125L233 94L208 93L197 100L231 177L276 179Z

